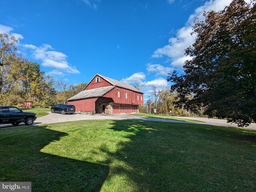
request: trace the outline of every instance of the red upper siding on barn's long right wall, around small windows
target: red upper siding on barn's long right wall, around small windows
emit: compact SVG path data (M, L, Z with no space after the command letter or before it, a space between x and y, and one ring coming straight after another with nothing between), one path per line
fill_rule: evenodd
M117 97L118 91L120 92L120 98ZM127 99L125 98L125 93L127 93ZM137 96L139 96L139 100L137 99ZM142 96L142 100L140 96ZM106 93L104 97L112 98L115 103L143 105L142 93L133 92L131 90L120 88L120 87L115 87L110 92Z

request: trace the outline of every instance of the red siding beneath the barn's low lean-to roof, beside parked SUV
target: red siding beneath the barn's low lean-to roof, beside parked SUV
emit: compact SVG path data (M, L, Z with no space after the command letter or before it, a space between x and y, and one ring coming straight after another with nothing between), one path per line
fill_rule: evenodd
M69 101L68 104L74 105L76 107L76 111L94 111L94 103L98 98L88 98L88 99L79 99Z

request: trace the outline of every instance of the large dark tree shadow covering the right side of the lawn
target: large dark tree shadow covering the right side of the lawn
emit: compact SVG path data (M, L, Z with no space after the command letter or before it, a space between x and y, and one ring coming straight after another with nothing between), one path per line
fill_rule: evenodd
M112 125L111 130L128 133L129 139L118 143L115 153L108 146L101 147L110 157L108 163L118 161L122 165L112 167L106 181L117 175L132 180L120 184L122 191L128 191L131 185L132 191L231 190L236 185L252 190L243 179L251 180L254 162L248 165L238 161L239 154L253 156L244 150L248 150L248 142L256 144L255 135L241 135L240 129L226 136L225 129L233 128L183 127L181 123L113 121ZM231 141L230 137L236 139ZM234 146L236 140L244 144L241 149Z

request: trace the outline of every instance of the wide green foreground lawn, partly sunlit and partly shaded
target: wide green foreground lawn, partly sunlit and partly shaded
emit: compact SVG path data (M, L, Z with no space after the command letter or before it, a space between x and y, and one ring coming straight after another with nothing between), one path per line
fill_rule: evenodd
M32 191L256 191L256 131L88 120L0 129L0 181Z

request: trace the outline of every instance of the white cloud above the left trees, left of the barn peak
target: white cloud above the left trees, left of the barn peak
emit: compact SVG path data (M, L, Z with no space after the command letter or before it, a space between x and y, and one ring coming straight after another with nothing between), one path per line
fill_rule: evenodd
M62 52L52 51L51 45L43 44L41 47L35 45L23 45L28 49L32 49L32 55L35 59L42 61L42 66L51 67L56 70L51 71L52 74L61 75L60 71L65 71L66 73L80 73L76 67L71 66L67 62L67 55Z

